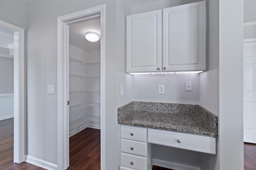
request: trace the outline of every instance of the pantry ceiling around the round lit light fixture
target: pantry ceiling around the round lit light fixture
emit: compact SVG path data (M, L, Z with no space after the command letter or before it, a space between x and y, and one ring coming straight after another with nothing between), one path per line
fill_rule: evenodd
M86 32L95 32L100 36L100 19L69 25L69 43L86 51L100 49L100 40L88 41Z

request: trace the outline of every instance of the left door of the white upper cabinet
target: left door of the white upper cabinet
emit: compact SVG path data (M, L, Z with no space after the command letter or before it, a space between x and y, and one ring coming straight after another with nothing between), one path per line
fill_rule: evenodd
M126 71L161 71L162 10L127 16Z

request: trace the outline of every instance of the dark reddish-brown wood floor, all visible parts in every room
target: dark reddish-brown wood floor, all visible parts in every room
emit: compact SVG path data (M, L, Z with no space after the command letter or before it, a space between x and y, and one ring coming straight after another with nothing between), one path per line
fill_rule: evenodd
M100 170L100 130L86 128L70 137L68 170ZM13 118L0 121L0 170L44 170L13 163ZM153 166L152 170L169 170ZM256 170L256 144L244 143L244 170Z

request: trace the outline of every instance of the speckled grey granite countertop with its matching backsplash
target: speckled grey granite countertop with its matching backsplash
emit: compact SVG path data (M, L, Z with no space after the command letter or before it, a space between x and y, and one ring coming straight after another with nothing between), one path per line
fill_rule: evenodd
M193 104L130 102L118 108L118 123L218 137L218 117Z

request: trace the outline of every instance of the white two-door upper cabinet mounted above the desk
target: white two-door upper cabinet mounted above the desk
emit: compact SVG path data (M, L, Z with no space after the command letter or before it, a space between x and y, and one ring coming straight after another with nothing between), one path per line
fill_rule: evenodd
M127 16L127 72L205 71L206 1Z

